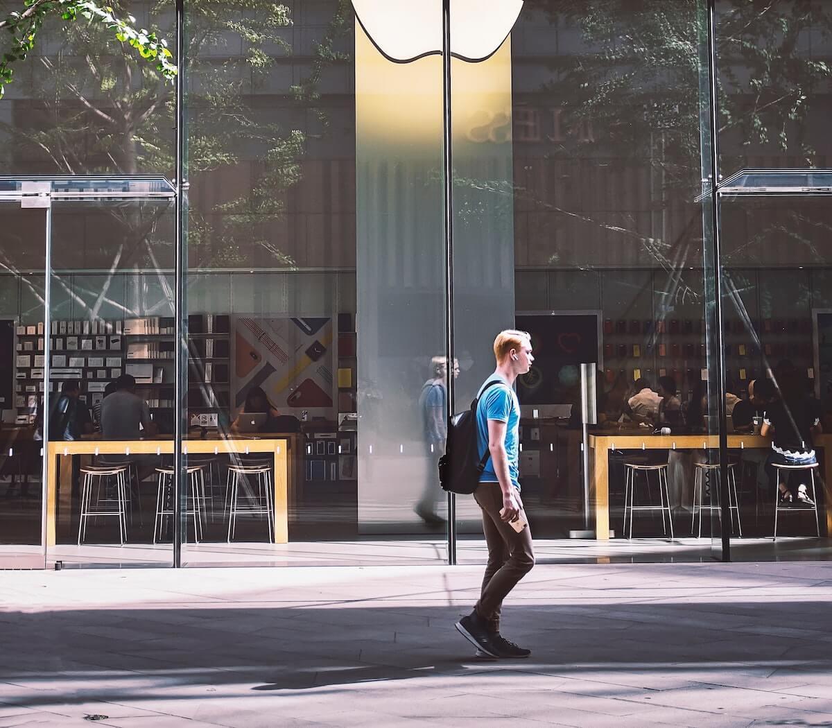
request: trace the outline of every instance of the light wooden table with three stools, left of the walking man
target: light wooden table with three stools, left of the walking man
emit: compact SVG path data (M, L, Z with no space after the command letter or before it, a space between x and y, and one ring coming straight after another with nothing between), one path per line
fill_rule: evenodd
M230 455L268 453L275 467L275 543L289 542L288 494L294 482L295 463L292 455L298 452L298 435L266 435L262 438L188 439L182 452L191 455ZM293 447L294 445L294 447ZM47 465L47 546L55 545L58 484L72 479L72 456L82 455L172 455L172 439L156 440L97 440L48 444ZM62 505L70 508L72 488L62 488ZM64 503L66 499L66 503Z

